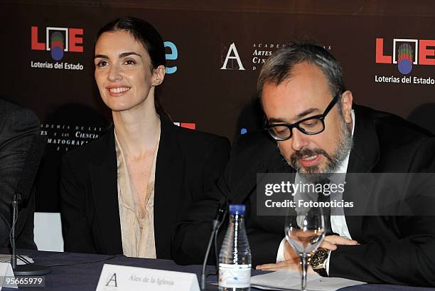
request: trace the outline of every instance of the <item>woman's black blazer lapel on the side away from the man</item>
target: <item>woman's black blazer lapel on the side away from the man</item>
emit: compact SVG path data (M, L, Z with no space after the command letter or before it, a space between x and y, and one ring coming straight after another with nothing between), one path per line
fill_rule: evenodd
M92 194L95 205L95 215L100 233L96 241L97 248L103 253L122 254L121 223L119 220L118 186L117 186L117 156L115 151L114 130L102 137L102 149L95 153L95 159L90 163Z

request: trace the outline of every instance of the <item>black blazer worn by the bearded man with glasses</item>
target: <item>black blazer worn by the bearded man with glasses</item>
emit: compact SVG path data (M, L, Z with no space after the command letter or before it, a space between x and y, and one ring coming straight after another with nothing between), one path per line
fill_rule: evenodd
M354 145L348 173L435 172L435 138L429 132L395 115L358 105L354 109ZM208 203L218 205L224 193L233 201L247 205L253 265L274 263L284 238L284 216L257 216L257 173L268 172L294 172L294 169L286 164L267 132L242 135L233 146L224 176L218 181L220 191ZM178 263L200 261L191 255L189 248L189 242L200 236L193 231L200 227L199 216L195 218L197 225L186 222L178 227L178 245L174 245ZM210 217L202 219L208 221ZM397 285L435 285L434 216L346 216L346 223L350 235L360 245L339 245L331 253L331 277ZM204 238L200 239L205 239L205 233L201 235Z

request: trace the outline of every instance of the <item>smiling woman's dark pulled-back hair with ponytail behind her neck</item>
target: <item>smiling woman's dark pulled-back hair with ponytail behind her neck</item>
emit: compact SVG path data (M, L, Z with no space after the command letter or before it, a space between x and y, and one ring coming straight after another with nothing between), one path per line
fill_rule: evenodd
M117 18L100 28L97 32L95 43L97 43L98 38L100 38L103 33L112 31L127 31L136 41L139 41L139 43L144 46L149 54L149 58L151 59L151 72L159 67L159 65L166 66L163 38L161 38L159 32L156 31L156 28L151 26L150 23L136 17ZM157 95L154 98L154 103L156 105L157 113L166 115L163 107L161 107L161 102Z

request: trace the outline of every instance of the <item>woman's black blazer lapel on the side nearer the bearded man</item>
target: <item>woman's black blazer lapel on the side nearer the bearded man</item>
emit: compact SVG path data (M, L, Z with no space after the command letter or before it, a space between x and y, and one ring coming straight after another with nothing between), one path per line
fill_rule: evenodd
M171 258L171 232L177 223L178 205L184 189L185 162L179 147L177 128L161 117L159 151L154 184L154 238L157 258Z

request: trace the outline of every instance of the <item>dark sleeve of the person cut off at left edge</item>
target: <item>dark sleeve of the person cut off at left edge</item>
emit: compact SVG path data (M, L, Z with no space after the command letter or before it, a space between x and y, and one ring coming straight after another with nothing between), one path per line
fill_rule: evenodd
M11 203L24 163L31 148L33 137L39 132L38 117L24 107L9 114L0 128L0 246L9 245L11 230ZM28 213L32 215L33 213ZM19 233L20 230L17 230ZM32 236L33 237L33 236ZM26 242L23 244L27 245ZM28 245L34 245L33 241Z

